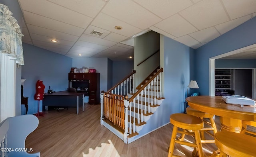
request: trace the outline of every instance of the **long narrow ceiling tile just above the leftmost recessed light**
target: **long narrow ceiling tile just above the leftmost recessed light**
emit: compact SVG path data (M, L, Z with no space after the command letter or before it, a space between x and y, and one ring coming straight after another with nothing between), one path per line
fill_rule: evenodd
M30 33L44 35L44 36L48 36L48 37L52 37L52 38L56 38L56 39L63 39L63 40L67 40L67 41L76 42L79 38L76 35L70 35L70 34L62 33L60 31L54 31L51 29L46 29L43 27L38 27L38 26L30 25L30 24L28 24L28 29L29 29Z

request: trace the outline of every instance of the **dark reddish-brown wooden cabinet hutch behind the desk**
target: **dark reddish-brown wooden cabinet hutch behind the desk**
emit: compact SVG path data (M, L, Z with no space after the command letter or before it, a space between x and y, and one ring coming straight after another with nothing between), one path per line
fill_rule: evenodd
M88 88L89 104L100 103L100 73L68 73L68 80L69 88Z

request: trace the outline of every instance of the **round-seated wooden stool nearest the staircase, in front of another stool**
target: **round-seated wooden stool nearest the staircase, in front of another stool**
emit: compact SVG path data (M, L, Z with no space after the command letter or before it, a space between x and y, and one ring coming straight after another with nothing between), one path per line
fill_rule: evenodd
M171 124L173 124L173 130L172 130L172 137L171 137L168 157L175 156L173 155L175 143L188 145L190 147L195 147L198 149L198 156L203 157L204 154L203 154L199 130L204 127L204 122L196 116L189 115L189 114L180 114L180 113L172 114L170 116L170 122ZM180 131L178 130L178 128L182 128L185 130L193 130L193 132ZM195 142L189 143L186 141L176 140L177 133L192 135L195 137Z

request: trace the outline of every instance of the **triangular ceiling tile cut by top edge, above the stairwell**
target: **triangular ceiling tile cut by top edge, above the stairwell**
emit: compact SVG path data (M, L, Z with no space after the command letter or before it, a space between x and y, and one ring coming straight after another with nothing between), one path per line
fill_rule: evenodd
M134 0L162 19L168 18L193 3L189 0Z

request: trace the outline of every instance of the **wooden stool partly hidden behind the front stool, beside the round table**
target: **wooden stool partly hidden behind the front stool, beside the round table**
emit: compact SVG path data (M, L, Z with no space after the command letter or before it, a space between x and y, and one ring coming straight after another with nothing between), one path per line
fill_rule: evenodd
M190 115L193 115L193 116L201 118L203 120L204 124L207 124L209 126L208 128L204 127L204 128L202 128L200 130L201 142L202 143L214 143L214 139L206 140L205 137L204 137L204 132L208 133L213 138L214 138L214 134L217 132L217 128L216 128L216 125L215 125L215 122L214 122L214 118L213 118L214 115L213 114L208 114L208 113L205 113L205 112L201 112L201 111L198 111L198 110L195 110L195 109L193 109L191 107L187 107L186 111L187 111L187 114L190 114ZM204 120L204 118L209 118L210 122L207 122L206 120ZM213 131L213 133L210 132L211 130ZM185 137L185 134L182 134L179 137L179 140L183 141L184 137Z

